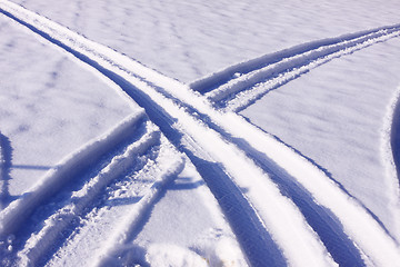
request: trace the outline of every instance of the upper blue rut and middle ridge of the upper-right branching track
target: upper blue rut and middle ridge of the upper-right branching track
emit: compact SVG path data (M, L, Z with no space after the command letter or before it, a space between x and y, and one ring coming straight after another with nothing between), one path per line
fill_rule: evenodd
M190 83L190 87L193 90L206 93L206 96L214 102L223 102L222 100L234 98L234 95L261 81L307 66L309 62L318 59L327 58L332 53L334 56L329 57L328 60L351 53L372 43L384 41L386 39L398 36L399 30L400 26L397 24L308 42L228 67L227 69ZM327 60L319 65L326 61Z

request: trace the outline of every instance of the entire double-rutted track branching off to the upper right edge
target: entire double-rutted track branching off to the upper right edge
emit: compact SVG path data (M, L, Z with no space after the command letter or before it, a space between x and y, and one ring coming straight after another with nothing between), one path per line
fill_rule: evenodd
M400 24L311 41L230 66L190 83L216 107L240 111L290 80L333 58L400 34Z

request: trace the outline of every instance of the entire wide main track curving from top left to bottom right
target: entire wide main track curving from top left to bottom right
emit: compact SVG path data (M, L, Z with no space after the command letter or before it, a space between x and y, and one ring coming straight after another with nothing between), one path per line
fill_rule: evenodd
M346 259L338 255L346 249L350 264L400 263L398 245L354 199L308 160L240 116L219 112L184 85L17 4L4 1L0 11L97 69L144 108L204 178L250 264L333 265L322 244L342 264ZM239 210L232 212L234 209ZM238 216L241 211L248 216ZM241 225L246 219L250 224ZM292 227L282 227L288 220ZM254 235L259 238L252 239ZM328 244L333 237L333 244Z

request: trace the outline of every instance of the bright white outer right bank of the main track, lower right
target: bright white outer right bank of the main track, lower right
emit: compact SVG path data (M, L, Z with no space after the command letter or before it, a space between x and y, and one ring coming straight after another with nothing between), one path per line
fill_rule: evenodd
M314 198L314 200L328 208L343 227L344 233L354 241L362 251L367 263L371 260L376 266L391 266L400 263L399 245L387 235L386 230L372 216L352 197L348 196L322 170L313 166L309 160L300 157L291 148L278 142L273 137L257 128L241 123L244 121L236 115L226 117L227 125L240 125L234 128L234 135L243 136L251 147L279 167L294 177Z

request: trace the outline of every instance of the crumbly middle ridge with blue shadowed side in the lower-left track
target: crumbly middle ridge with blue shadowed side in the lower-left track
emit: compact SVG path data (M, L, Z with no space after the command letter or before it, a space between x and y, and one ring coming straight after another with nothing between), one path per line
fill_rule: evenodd
M136 158L148 151L157 145L160 139L160 132L149 125L149 129L138 141L129 145L122 155L112 158L111 162L106 166L97 176L90 179L84 187L72 194L68 205L56 211L44 221L44 227L36 235L32 235L24 248L19 253L21 266L36 266L36 260L59 238L72 220L78 219L86 208L98 197L102 189L112 180L124 175L133 168Z

